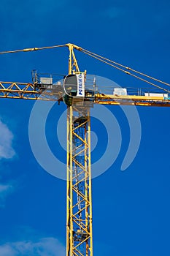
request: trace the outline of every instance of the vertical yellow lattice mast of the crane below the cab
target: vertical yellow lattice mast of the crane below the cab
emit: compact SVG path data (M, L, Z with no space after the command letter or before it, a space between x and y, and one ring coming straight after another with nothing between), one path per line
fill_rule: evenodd
M90 112L67 112L67 256L93 256Z

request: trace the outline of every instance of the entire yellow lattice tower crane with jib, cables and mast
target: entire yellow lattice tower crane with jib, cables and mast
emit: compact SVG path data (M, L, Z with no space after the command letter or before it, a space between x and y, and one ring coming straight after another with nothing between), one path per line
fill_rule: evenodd
M33 72L32 83L0 82L0 97L64 102L67 105L67 190L66 190L66 256L93 256L92 194L90 167L90 108L101 105L135 105L170 107L169 83L68 43L44 48L4 51L28 52L50 48L69 48L69 72L63 84L39 79ZM86 71L80 72L74 53L79 50L115 69L155 87L154 90L114 89L112 94L99 91L96 81L89 89ZM163 87L162 87L163 85Z

